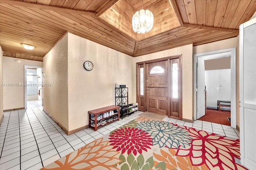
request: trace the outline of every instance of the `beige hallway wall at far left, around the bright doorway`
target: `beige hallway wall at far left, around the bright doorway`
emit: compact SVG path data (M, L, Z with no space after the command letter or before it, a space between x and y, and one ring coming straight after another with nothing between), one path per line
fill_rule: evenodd
M17 58L3 57L3 83L21 83L24 84L25 65L43 66L42 61L32 61L19 59L21 62L17 63ZM25 107L25 86L4 86L4 110L17 109Z

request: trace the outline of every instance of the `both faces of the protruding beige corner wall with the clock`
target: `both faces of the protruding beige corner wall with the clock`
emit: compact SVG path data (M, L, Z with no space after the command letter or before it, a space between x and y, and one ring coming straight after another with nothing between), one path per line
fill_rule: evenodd
M94 68L86 71L85 61ZM88 111L115 105L116 83L129 88L133 97L134 58L71 33L44 57L44 110L68 131L88 125Z

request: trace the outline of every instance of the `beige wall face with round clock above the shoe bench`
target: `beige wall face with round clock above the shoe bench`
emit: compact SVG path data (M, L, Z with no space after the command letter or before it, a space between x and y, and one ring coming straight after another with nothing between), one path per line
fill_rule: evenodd
M85 61L94 68L86 71ZM68 116L69 131L88 125L88 111L115 105L115 84L128 87L129 103L132 94L134 58L90 40L68 33Z

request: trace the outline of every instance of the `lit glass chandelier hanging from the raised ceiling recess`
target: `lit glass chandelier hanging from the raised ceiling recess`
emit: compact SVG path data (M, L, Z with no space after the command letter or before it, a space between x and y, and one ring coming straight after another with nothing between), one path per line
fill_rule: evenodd
M150 10L142 9L132 16L132 29L136 33L147 33L152 29L153 23L154 16Z

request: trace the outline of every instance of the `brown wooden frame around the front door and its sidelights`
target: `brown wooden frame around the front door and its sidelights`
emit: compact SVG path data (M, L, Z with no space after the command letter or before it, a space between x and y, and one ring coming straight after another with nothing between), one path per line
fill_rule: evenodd
M136 63L136 102L140 105L140 80L138 79L140 76L140 70L138 70L139 65L144 66L144 94L146 93L146 64L148 63L154 63L154 62L158 62L158 61L165 61L165 60L172 60L172 59L179 59L179 63L180 63L180 70L179 73L180 74L180 85L181 88L179 88L178 93L180 94L180 102L179 102L179 110L180 110L180 114L179 114L179 119L182 119L182 55L174 55L174 56L170 56L170 57L164 57L164 58L159 58L159 59L153 59L153 60L149 60L149 61L142 61L142 62L138 62ZM170 68L170 66L169 66ZM168 69L168 71L170 72L170 69ZM169 85L168 85L169 86ZM170 86L168 87L168 89L170 90ZM146 102L146 95L143 95L144 98L144 103ZM168 98L170 98L170 96L168 96ZM139 109L139 106L138 106ZM170 104L168 104L168 109L170 110ZM140 109L140 111L146 111L146 105L143 107L143 109ZM170 111L169 111L170 112ZM170 113L168 113L168 117L170 117Z

